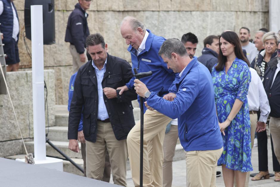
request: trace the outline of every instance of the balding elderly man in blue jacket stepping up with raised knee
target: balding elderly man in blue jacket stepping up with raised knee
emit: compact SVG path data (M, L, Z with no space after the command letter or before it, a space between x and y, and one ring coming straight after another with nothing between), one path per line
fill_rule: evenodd
M127 16L121 24L121 34L125 38L128 51L131 53L132 68L137 72L152 71L153 75L142 78L147 87L163 98L172 100L176 96L173 81L175 73L167 68L158 55L165 38L154 35L146 30L144 24L136 18ZM121 89L123 91L134 88L134 77ZM139 101L139 98L138 98ZM144 111L147 108L144 107ZM143 149L143 186L162 186L162 163L164 132L171 118L157 111L147 110L144 114L144 149ZM135 186L140 185L140 122L137 123L127 136L127 148Z

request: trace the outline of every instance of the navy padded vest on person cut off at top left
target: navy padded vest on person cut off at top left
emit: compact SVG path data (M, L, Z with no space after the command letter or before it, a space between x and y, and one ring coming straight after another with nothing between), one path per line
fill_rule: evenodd
M13 8L10 0L1 0L3 2L3 13L0 15L0 31L3 33L4 39L3 44L8 44L13 39L13 26L14 26L14 15ZM15 5L12 2L14 8ZM16 16L18 18L18 13L15 9Z

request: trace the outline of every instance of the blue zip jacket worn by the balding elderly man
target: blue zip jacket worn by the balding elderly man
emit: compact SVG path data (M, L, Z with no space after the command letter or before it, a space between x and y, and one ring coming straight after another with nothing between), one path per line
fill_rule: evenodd
M141 81L146 84L150 91L156 92L159 96L162 97L169 92L176 93L175 82L173 83L176 74L167 68L163 59L158 55L158 51L166 39L154 35L150 30L147 30L147 32L149 35L145 43L145 49L138 56L136 49L131 45L127 49L131 53L132 71L133 68L136 68L138 73L152 71L152 76L141 78ZM134 79L135 77L132 77L126 84L129 89L134 89ZM144 111L146 109L144 106Z

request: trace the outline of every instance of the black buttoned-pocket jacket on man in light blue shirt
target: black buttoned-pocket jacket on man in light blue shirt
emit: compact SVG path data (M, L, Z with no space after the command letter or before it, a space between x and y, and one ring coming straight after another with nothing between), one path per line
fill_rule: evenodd
M133 77L131 66L122 58L107 56L107 65L102 80L102 88L118 88L125 85ZM108 99L103 94L104 103L109 115L113 132L117 140L124 140L135 125L131 101L137 98L134 89ZM74 83L74 93L71 101L68 123L68 139L77 139L78 126L83 110L83 133L85 139L96 141L98 89L97 77L92 61L88 61L78 70Z

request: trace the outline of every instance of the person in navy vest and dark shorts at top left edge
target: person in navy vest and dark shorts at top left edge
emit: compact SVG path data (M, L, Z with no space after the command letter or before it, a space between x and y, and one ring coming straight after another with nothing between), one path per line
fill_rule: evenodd
M20 62L18 54L19 22L13 0L0 0L0 23L0 31L3 33L1 39L5 44L3 49L8 65L7 72L17 71Z

